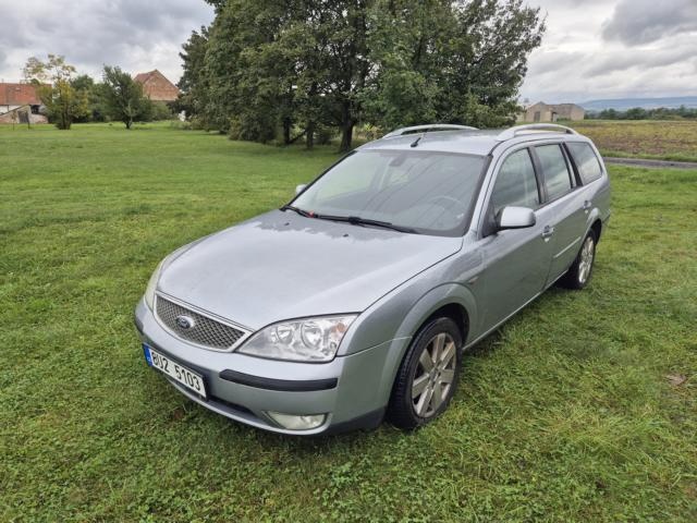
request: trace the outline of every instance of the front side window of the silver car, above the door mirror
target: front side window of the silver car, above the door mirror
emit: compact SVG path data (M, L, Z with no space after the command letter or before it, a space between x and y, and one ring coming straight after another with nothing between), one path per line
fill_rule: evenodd
M530 209L537 209L540 205L535 168L527 149L517 150L504 160L493 185L491 193L493 216L509 205Z

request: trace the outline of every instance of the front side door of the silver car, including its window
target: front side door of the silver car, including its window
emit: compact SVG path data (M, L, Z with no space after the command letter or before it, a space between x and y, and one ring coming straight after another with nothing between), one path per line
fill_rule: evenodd
M485 269L479 331L506 319L543 289L549 275L551 241L548 234L553 214L541 207L542 192L527 147L513 150L500 162L488 197L480 240ZM536 224L528 229L493 232L491 221L505 206L535 210ZM487 228L491 231L486 232Z

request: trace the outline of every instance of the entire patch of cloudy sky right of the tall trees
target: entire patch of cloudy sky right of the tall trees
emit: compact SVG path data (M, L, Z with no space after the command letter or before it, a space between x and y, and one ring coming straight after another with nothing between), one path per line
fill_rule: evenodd
M697 0L527 0L549 13L523 99L697 95Z

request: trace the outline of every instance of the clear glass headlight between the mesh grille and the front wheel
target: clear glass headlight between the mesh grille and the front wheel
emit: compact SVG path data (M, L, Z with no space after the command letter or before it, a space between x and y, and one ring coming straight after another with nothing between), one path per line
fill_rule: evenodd
M237 352L270 360L330 362L356 315L295 319L254 335Z

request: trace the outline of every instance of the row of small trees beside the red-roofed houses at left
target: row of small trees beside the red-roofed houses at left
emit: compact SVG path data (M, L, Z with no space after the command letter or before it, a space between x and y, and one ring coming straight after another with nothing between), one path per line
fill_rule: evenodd
M143 86L118 66L105 65L101 82L77 74L65 58L48 54L46 61L32 57L23 70L25 81L36 85L49 121L69 130L74 122L123 122L168 120L173 110L152 102Z

